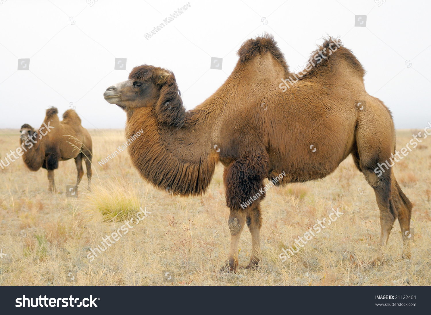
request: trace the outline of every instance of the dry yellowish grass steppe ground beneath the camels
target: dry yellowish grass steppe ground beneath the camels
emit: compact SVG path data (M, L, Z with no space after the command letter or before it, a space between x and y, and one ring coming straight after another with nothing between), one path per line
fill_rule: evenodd
M414 130L397 131L397 148ZM398 221L384 264L369 265L380 236L372 188L349 156L322 181L273 187L262 202L262 261L256 270L219 273L230 232L222 166L206 194L175 197L142 180L126 151L100 166L124 141L123 130L90 130L94 143L92 191L87 178L78 198L66 197L75 184L74 160L55 171L59 192L49 193L47 172L30 172L22 158L0 169L0 285L2 286L429 286L431 285L431 137L394 166L412 201L411 260L402 259ZM0 132L0 157L19 146L18 130ZM363 191L363 192L362 192ZM117 231L142 207L151 212L139 225L92 262L90 248ZM286 262L281 248L294 243L331 208L344 213ZM241 235L240 266L250 259L251 237ZM71 281L72 272L76 277ZM172 275L166 281L164 275Z

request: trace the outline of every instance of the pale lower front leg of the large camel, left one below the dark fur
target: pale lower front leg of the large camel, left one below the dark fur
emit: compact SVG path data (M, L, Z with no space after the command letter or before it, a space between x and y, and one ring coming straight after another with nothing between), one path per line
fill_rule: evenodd
M238 268L238 244L241 232L245 224L245 213L241 210L232 210L229 215L228 225L231 231L231 246L229 249L228 261L222 271L237 271Z

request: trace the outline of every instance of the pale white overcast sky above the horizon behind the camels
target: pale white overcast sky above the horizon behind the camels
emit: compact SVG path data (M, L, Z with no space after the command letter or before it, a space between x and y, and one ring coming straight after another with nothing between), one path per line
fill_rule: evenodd
M172 70L193 109L231 73L240 45L265 31L291 70L322 37L340 35L395 127L424 128L431 121L429 12L425 0L0 0L0 128L39 127L50 106L60 114L75 106L85 128L124 128L125 112L103 92L144 63ZM355 27L355 15L366 15L365 27ZM210 69L211 57L223 59L222 70ZM18 59L28 58L29 70L18 71ZM114 70L115 58L127 59L126 70Z

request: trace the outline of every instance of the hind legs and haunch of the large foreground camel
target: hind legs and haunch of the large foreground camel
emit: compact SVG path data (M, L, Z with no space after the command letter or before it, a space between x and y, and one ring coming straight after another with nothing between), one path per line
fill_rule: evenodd
M368 105L373 103L367 103ZM371 108L370 108L371 107ZM390 231L398 218L402 231L409 231L412 203L398 185L391 166L397 161L394 157L395 130L389 113L380 112L380 121L376 119L376 112L369 106L363 115L367 121L359 122L356 129L356 148L352 155L356 166L364 174L365 179L374 189L377 205L380 209L380 244L378 255L372 263L383 260L384 248ZM375 108L377 111L378 109ZM362 117L364 119L364 117ZM387 120L386 123L384 120ZM372 123L379 121L378 124ZM388 128L392 127L392 128ZM378 135L378 140L376 135ZM403 237L404 257L409 258L409 246Z

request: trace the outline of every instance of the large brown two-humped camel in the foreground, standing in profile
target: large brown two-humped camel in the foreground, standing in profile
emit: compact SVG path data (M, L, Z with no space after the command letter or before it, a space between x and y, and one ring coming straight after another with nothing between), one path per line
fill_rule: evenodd
M395 219L409 229L412 204L390 168L375 173L378 163L394 153L395 130L387 107L365 91L362 65L329 38L300 78L284 87L285 78L294 74L272 36L246 41L238 56L225 83L187 112L175 76L166 69L141 65L128 81L106 89L105 99L127 114L126 136L144 130L128 147L134 166L156 187L181 196L203 193L215 164L225 166L231 231L226 267L234 271L245 224L253 244L246 268L259 263L265 178L284 173L277 185L324 178L352 154L380 209L380 248L373 262L381 261ZM365 110L358 103L366 104ZM258 198L250 204L252 196Z

